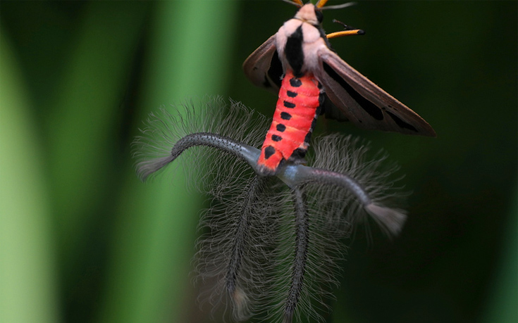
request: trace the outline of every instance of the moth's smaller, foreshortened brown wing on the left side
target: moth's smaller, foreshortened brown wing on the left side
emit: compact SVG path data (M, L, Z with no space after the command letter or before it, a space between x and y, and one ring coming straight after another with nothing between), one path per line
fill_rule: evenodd
M278 94L280 78L284 72L277 54L275 34L248 56L243 63L243 70L254 85Z

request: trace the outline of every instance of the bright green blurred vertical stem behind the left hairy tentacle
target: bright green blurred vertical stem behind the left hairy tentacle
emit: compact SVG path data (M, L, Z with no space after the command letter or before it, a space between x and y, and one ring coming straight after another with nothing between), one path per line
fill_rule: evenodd
M144 114L138 119L160 105L223 93L237 6L236 1L156 3L150 72L140 103ZM200 198L185 191L181 171L173 183L152 184L127 173L101 321L187 322L194 303L189 271Z

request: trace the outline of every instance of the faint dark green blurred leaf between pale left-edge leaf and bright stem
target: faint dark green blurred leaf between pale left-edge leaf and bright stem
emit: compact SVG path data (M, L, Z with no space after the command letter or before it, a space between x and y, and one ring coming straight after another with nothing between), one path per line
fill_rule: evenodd
M117 108L147 13L135 6L109 6L87 4L58 90L46 107L47 162L65 286L75 279L70 274L80 272L78 254L97 220L92 210L109 192L109 171L116 167L112 141L106 138L118 130Z

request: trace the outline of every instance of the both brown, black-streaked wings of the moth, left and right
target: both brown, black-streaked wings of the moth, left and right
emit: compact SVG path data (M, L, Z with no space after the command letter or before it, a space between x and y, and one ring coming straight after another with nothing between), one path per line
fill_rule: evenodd
M259 46L243 63L245 75L258 87L278 93L284 71L276 49L276 36ZM436 137L428 122L386 91L354 70L328 48L319 49L314 72L326 92L326 118L350 121L360 128Z

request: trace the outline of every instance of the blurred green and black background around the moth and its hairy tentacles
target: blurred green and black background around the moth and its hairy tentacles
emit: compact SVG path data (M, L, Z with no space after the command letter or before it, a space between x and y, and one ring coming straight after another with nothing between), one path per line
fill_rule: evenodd
M330 4L340 2L331 1ZM0 322L209 322L190 258L203 198L142 184L130 143L159 106L222 95L272 115L241 71L282 1L1 1ZM397 160L401 236L357 236L328 322L517 322L517 2L358 1L348 63L436 139L353 133Z

